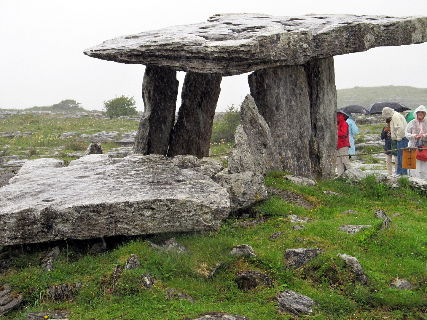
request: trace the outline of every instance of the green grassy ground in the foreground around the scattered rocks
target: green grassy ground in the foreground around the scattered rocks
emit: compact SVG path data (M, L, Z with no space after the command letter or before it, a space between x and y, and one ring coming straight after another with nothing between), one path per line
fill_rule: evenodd
M282 173L273 172L266 178L266 184L304 194L316 207L302 209L271 198L257 206L266 222L256 227L236 227L235 220L231 219L218 233L162 235L150 239L161 241L174 236L191 251L188 256L157 253L143 238L117 243L101 255L88 254L87 250L63 241L54 271L44 273L38 265L46 251L20 253L1 282L11 283L16 293L22 292L25 306L0 319L23 320L28 312L65 309L72 312L72 319L193 319L208 311L226 311L250 319L289 320L292 317L277 314L275 308L274 296L284 289L307 295L317 302L313 314L304 317L306 319L427 319L425 192L409 189L405 179L401 180L401 188L387 189L375 183L371 176L360 185L325 180L319 181L318 187L303 187L282 179ZM323 190L343 196L325 195ZM377 208L389 215L400 212L402 216L393 218L389 230L381 231L382 221L374 218ZM340 214L348 209L359 213ZM306 230L292 230L292 225L285 220L289 213L309 216L313 222L305 224ZM342 224L374 227L348 235L337 231ZM268 239L278 231L283 232L281 237ZM307 241L296 242L297 237ZM258 258L248 261L228 256L237 244L252 245ZM284 270L286 249L313 246L326 251L298 270ZM132 253L141 258L141 266L134 271L123 271L113 288L115 265L123 266ZM336 257L337 253L359 259L368 276L368 285L360 285L355 280L342 259ZM213 279L207 279L206 269L218 261L224 262L223 267ZM242 291L234 279L245 270L262 271L275 280L275 285ZM152 291L145 291L140 284L145 272L156 278ZM397 277L408 279L414 289L389 288ZM50 285L78 281L83 282L82 291L73 300L53 302L44 297ZM184 291L196 302L168 302L164 298L167 288Z

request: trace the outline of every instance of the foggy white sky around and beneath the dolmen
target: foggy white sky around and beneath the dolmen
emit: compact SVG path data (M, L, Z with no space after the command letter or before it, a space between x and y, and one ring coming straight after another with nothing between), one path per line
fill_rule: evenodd
M83 55L119 35L205 21L216 13L270 15L346 13L427 15L426 0L0 0L0 108L29 108L75 99L87 109L102 100L135 96L143 110L144 66ZM335 57L337 89L427 87L427 43L380 47ZM182 85L185 73L178 73ZM181 86L180 86L181 87ZM224 77L217 111L249 93L247 75ZM178 96L179 100L179 96Z

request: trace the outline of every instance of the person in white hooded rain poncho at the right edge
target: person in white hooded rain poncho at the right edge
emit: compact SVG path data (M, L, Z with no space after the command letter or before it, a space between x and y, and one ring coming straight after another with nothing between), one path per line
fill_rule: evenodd
M415 114L415 119L411 120L406 127L406 137L409 140L408 147L427 147L426 107L420 105L415 110ZM427 162L417 159L417 169L409 169L409 175L427 180Z

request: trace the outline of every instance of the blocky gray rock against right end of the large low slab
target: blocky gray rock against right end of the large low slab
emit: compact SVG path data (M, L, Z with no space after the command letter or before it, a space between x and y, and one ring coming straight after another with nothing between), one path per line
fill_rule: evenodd
M227 189L232 211L248 209L268 198L264 177L254 172L220 175L213 180Z

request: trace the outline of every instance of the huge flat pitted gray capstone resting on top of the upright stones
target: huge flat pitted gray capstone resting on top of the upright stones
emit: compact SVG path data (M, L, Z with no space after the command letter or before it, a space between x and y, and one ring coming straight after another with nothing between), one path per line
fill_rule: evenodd
M373 47L425 42L426 20L377 15L218 14L202 23L120 36L84 53L128 64L231 76Z

